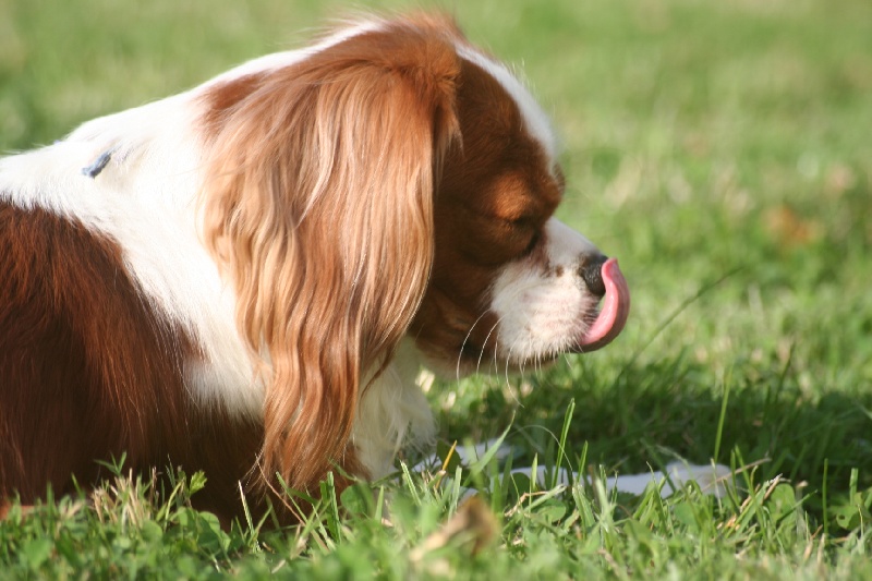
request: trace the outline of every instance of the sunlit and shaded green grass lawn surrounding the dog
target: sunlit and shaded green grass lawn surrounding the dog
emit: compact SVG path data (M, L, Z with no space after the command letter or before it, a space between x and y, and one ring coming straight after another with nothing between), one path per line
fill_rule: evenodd
M343 5L8 1L0 149L296 45ZM872 578L872 5L453 11L523 64L565 142L559 215L620 258L634 294L602 352L437 383L445 441L511 426L516 465L560 458L594 475L714 459L748 467L736 492L517 482L460 506L457 479L407 473L372 486L389 523L361 484L327 494L300 528L226 532L189 507L202 475L119 467L87 503L49 499L0 522L0 578ZM484 482L500 468L460 470Z

